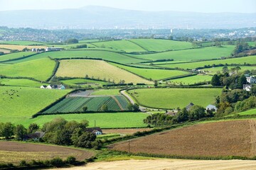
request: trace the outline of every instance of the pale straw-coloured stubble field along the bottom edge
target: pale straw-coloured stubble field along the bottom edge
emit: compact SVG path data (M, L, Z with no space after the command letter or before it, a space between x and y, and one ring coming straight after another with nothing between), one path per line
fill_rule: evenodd
M70 168L73 170L252 170L256 169L256 161L242 160L183 160L183 159L154 159L154 160L127 160L117 162L96 162L86 166Z

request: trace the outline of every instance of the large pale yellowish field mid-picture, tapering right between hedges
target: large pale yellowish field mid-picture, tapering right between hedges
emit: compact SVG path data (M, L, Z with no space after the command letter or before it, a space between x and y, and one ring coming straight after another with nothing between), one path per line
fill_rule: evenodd
M92 79L114 81L115 83L124 80L125 83L152 84L146 79L100 60L61 60L56 73L58 77L85 77L85 75Z

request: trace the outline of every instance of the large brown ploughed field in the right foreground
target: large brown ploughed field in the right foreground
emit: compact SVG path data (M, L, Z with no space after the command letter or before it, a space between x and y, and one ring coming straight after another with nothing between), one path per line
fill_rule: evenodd
M204 123L119 142L110 147L127 152L130 148L133 153L254 157L256 123L255 120Z

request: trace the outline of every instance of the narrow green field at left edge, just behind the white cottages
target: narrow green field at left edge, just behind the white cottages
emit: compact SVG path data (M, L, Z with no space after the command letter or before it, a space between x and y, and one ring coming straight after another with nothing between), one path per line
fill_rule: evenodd
M5 86L25 86L36 88L42 86L40 82L30 79L0 79L0 84L4 84Z

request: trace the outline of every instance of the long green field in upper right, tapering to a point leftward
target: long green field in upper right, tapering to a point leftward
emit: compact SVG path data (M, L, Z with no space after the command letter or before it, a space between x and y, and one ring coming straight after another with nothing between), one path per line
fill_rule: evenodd
M220 57L229 57L235 46L229 45L224 47L204 47L191 50L178 50L170 52L159 52L150 55L129 55L144 60L210 60Z

